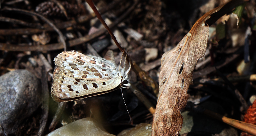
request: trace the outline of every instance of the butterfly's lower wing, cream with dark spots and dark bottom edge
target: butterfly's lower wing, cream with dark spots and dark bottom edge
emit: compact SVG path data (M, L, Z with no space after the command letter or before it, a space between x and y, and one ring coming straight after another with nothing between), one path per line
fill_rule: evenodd
M116 90L121 79L121 76L108 81L77 79L57 68L53 77L51 94L57 102L82 99Z

